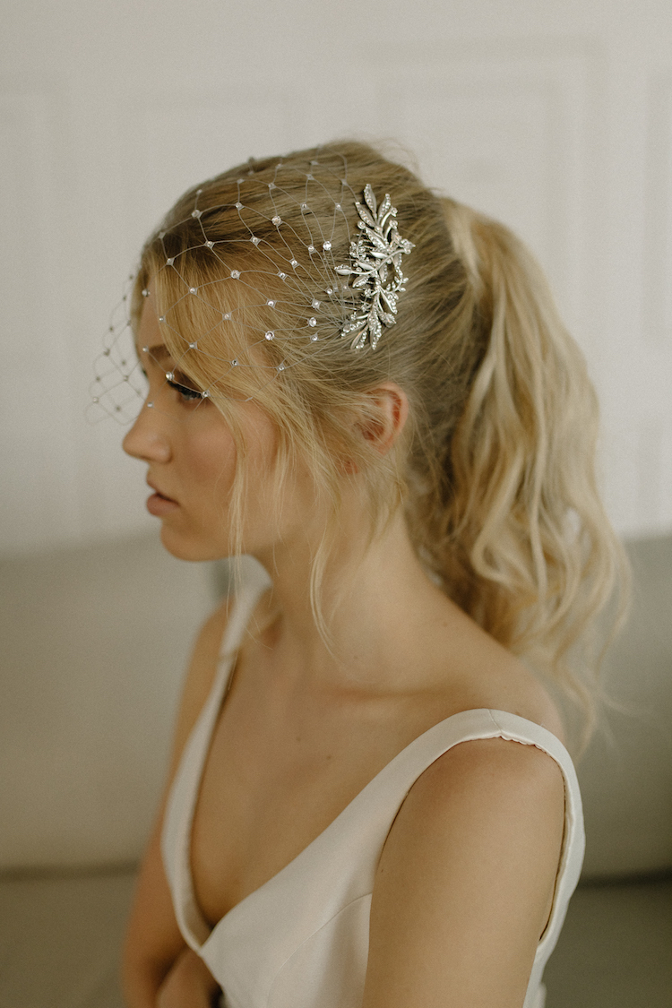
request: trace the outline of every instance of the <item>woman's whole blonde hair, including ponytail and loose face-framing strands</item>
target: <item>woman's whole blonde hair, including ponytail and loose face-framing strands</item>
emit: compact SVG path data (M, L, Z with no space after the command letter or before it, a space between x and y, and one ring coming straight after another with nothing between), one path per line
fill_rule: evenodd
M383 331L375 353L354 352L341 338L343 301L323 303L324 271L307 248L315 226L328 222L333 261L348 261L355 198L367 183L379 199L391 195L399 232L415 246L396 326ZM245 282L223 273L213 243L227 262L233 256ZM175 268L166 268L166 256ZM590 710L589 631L617 584L625 591L627 562L595 485L597 406L585 362L541 270L507 228L439 200L371 147L344 141L252 161L189 191L143 250L136 319L150 279L169 324L168 349L238 438L234 526L245 445L231 397L254 396L274 421L280 482L301 458L330 496L332 521L311 576L325 632L319 585L347 458L367 475L372 528L403 506L418 554L446 594ZM185 284L210 285L215 306L184 296ZM314 345L305 337L312 299L322 303ZM278 310L274 339L252 339L273 330ZM194 333L197 353L186 353ZM223 369L232 356L250 366ZM406 392L410 419L400 450L381 458L352 418L366 411L375 420L367 391L386 380Z

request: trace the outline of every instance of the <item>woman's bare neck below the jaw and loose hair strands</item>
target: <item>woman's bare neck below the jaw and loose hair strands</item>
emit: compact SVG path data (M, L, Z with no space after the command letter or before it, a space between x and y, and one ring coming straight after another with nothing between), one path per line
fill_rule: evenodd
M297 536L258 554L273 579L273 616L265 642L275 660L301 680L403 687L406 677L417 679L409 662L418 640L437 619L446 622L451 604L424 573L401 510L373 542L356 517L349 520L346 504L323 571L318 601L326 639L310 603L316 542Z

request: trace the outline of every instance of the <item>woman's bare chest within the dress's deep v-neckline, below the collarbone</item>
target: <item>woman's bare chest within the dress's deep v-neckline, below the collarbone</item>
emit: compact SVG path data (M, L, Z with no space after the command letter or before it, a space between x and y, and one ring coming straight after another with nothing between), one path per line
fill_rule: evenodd
M211 924L308 847L431 717L386 702L253 699L232 690L220 713L194 809L191 876Z

